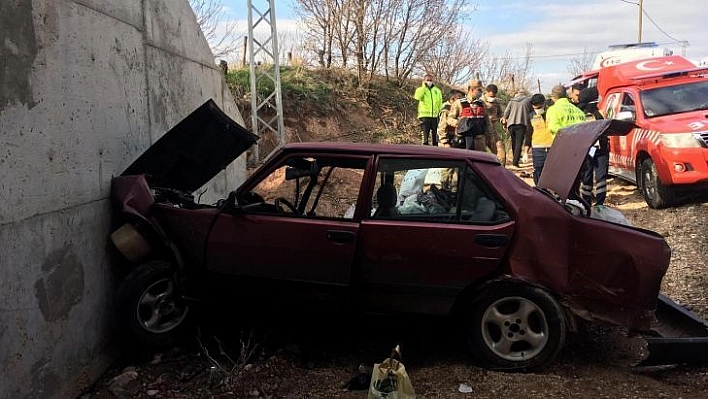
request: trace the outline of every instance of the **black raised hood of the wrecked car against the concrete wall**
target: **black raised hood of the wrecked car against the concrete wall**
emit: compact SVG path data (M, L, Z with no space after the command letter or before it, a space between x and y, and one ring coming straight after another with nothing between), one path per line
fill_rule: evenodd
M191 193L257 140L209 100L151 145L121 176L145 175L150 186Z

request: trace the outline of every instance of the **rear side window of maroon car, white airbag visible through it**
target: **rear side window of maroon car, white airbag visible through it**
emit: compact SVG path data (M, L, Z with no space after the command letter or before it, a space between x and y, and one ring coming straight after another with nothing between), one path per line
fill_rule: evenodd
M508 213L464 162L382 159L371 217L429 222L495 224Z

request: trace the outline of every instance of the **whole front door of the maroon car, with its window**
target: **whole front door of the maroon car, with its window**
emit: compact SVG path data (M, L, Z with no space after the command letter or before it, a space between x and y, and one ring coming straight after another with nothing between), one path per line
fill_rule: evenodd
M293 154L222 214L209 236L208 268L230 275L347 285L354 220L368 157Z

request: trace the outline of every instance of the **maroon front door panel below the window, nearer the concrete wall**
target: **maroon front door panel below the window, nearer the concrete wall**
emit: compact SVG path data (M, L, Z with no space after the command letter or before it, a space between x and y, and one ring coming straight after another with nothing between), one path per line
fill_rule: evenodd
M209 235L211 272L346 285L358 223L269 214L222 214Z

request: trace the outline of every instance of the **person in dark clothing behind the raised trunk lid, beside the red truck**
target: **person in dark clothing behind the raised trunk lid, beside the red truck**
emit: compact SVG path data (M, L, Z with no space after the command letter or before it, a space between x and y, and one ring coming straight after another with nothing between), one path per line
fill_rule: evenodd
M588 87L580 91L578 95L578 108L585 112L586 121L602 119L602 115L597 109L597 102L598 93L596 87ZM580 174L580 196L589 204L592 204L593 186L595 188L595 204L605 204L609 166L610 142L607 136L602 136L595 145L590 148L590 152L587 157L585 157L585 162L583 163Z

